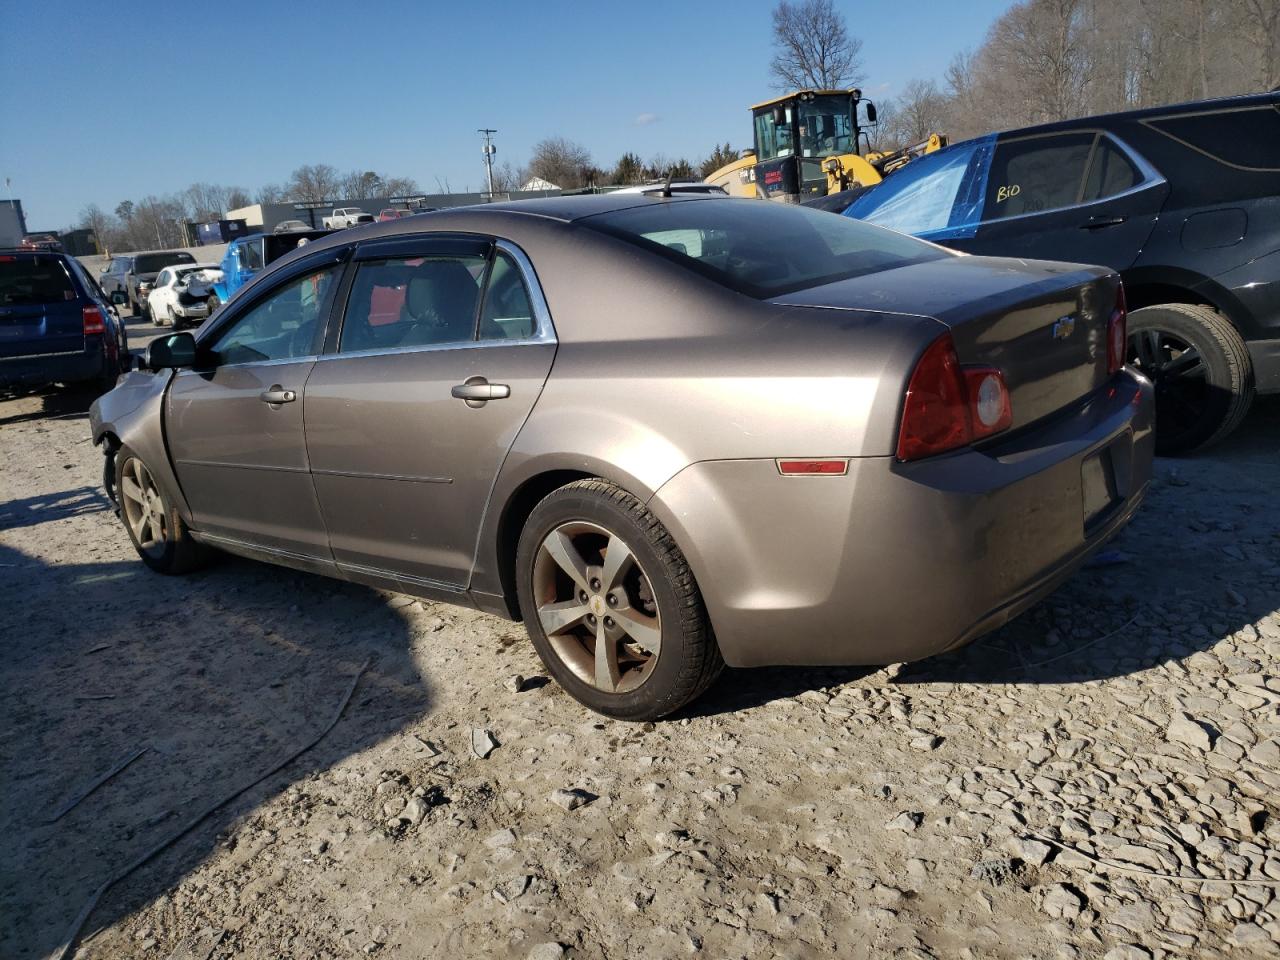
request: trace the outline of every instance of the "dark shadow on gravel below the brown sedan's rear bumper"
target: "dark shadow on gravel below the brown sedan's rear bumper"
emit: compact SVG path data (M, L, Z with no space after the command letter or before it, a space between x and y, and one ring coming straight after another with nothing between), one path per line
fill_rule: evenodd
M1183 660L1280 609L1280 397L1222 443L1156 461L1147 502L1089 564L1023 616L884 684L1083 684ZM1231 672L1262 669L1231 664ZM730 669L678 716L758 707L877 667Z

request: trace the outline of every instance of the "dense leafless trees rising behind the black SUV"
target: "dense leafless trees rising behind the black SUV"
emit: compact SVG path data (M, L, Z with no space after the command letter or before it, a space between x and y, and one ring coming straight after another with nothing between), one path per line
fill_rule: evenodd
M1280 0L1024 0L877 106L905 146L1277 86Z

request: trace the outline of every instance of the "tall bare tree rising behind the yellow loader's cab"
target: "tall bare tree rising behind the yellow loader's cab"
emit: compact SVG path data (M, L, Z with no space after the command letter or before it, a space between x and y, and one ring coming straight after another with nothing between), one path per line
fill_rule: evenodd
M861 82L863 41L849 36L832 0L782 0L773 8L773 44L769 70L780 90L832 90Z

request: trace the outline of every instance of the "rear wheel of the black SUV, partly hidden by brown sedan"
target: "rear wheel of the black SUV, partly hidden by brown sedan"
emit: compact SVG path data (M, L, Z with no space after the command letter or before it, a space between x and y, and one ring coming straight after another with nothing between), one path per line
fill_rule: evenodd
M1156 384L1160 456L1217 443L1240 425L1253 403L1249 351L1230 321L1211 307L1161 303L1133 311L1128 358Z

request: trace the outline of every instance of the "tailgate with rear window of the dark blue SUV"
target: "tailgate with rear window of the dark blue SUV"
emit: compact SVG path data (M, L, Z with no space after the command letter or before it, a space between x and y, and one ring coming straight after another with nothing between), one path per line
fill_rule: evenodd
M0 357L82 353L83 307L61 256L0 255Z

